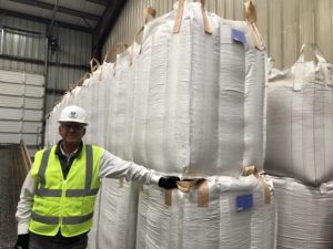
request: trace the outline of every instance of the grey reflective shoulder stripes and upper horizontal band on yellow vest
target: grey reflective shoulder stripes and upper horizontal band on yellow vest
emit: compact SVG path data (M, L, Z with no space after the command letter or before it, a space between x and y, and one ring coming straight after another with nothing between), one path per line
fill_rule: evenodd
M40 188L37 189L36 195L40 197L61 197L61 189L47 189L46 188L46 170L49 163L51 148L46 149L43 153L42 162L38 172L38 176L40 177ZM69 189L65 191L65 197L81 197L81 196L94 196L98 194L99 189L91 189L92 181L92 168L93 168L93 155L92 155L92 146L85 145L85 184L84 189Z

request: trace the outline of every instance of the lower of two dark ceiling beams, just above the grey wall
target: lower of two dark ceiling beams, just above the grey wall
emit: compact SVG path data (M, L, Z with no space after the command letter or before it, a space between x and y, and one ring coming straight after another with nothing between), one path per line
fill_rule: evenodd
M40 18L40 17L30 15L30 14L26 14L26 13L19 13L19 12L14 12L11 10L4 10L1 8L0 8L0 14L13 17L13 18L27 19L30 21L41 22L44 24L50 24L50 22L51 22L51 19ZM81 31L81 32L85 32L85 33L92 33L92 30L89 28L81 27L81 25L74 25L74 24L70 24L67 22L54 21L53 24L59 28L65 28L65 29L77 30L77 31Z

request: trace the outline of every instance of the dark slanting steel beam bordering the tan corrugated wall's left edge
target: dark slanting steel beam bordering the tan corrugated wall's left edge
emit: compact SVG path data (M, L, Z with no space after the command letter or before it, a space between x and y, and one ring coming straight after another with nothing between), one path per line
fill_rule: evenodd
M128 0L110 0L108 7L93 32L92 55L101 60L101 52L104 42L112 31L122 9Z

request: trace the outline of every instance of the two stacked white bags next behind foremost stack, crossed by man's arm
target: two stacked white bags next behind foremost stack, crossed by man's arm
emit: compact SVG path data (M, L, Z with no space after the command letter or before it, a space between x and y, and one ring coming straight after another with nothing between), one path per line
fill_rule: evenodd
M102 79L108 79L110 86L107 149L128 160L132 160L133 94L140 48L134 42L118 54L115 63L103 63L101 70ZM103 178L99 198L100 203L95 207L99 215L89 237L92 240L90 247L94 248L95 239L97 249L135 248L138 183L128 183L123 178Z

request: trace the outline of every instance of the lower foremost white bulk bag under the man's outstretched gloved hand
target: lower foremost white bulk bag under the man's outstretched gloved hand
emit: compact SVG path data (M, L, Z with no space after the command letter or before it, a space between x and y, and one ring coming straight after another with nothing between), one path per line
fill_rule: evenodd
M172 205L167 206L163 189L143 186L137 249L275 248L273 193L265 204L262 185L253 175L210 177L208 186L208 207L198 207L198 189L172 190ZM236 198L244 195L252 195L253 207L238 210Z

